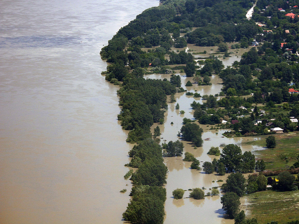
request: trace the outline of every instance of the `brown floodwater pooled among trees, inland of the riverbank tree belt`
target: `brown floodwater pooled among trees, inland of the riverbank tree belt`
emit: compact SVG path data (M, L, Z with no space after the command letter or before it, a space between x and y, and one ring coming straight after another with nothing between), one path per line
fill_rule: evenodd
M196 51L202 52L203 50L207 50L210 48L216 47L197 47L188 45L189 48L194 49ZM175 49L173 49L175 50ZM242 52L248 51L248 49L241 49ZM176 50L175 50L176 51ZM239 50L240 52L240 50ZM209 53L209 52L208 52ZM219 57L220 60L223 61L225 66L229 66L234 61L239 61L241 59L238 56L239 53L232 55L229 57L229 61L225 61L222 57ZM202 55L202 57L208 56ZM237 57L238 56L238 57ZM191 87L184 86L187 81L192 81L192 77L186 77L184 73L177 73L177 75L181 76L182 87L190 92L200 93L203 95L215 95L219 93L222 88L222 80L218 76L211 76L212 85L209 86L198 86L193 84ZM170 75L162 75L162 74L151 74L146 77L152 79L170 79ZM196 91L195 91L196 90ZM168 111L165 113L165 122L160 126L161 130L161 142L169 142L176 141L179 139L177 136L178 132L182 126L182 120L184 117L194 119L193 118L193 110L190 107L190 104L195 100L196 102L202 103L203 100L201 98L193 98L193 96L186 96L185 93L176 93L175 94L176 102L168 103ZM179 104L179 110L175 109L175 105ZM179 111L183 110L185 113L180 114ZM173 125L170 123L173 122ZM155 128L157 125L153 125ZM205 161L211 162L214 158L218 158L216 156L210 156L207 154L209 149L214 147L219 147L220 144L237 144L241 147L242 151L255 151L261 150L262 148L258 146L252 145L241 145L241 142L259 140L259 137L239 137L239 138L226 138L223 137L222 134L227 130L208 130L210 127L207 125L200 125L204 128L204 133L202 134L202 139L210 139L204 140L203 146L194 148L190 145L190 142L184 143L184 152L192 153L199 161L201 161L201 165ZM218 134L217 134L218 133ZM221 148L220 148L221 149ZM184 157L184 156L183 156ZM211 192L209 189L216 186L221 186L223 182L217 182L217 180L223 180L227 178L228 174L225 176L218 176L216 173L214 174L205 174L203 171L196 171L190 169L191 162L182 161L183 157L169 157L164 158L164 162L168 167L168 175L167 175L167 184L165 186L167 191L167 199L165 202L165 224L181 224L181 223L221 223L221 224L233 224L234 220L226 219L225 212L222 210L222 204L220 202L220 196L213 197L205 197L204 200L194 200L191 198L183 198L183 199L173 199L172 191L176 188L182 188L184 190L188 190L190 188L206 188L205 194ZM214 181L214 182L213 182ZM185 191L184 197L189 197L190 191Z

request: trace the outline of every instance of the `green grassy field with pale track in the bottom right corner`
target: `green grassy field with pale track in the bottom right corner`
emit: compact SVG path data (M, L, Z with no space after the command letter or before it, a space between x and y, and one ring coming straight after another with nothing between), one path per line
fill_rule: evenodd
M245 196L250 210L248 218L260 224L278 221L279 224L299 220L299 191L261 191Z

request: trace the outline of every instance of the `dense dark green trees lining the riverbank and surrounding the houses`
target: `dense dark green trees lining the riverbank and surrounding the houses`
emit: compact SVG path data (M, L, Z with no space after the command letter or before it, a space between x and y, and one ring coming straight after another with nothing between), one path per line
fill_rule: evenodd
M193 76L189 86L210 85L209 76L213 74L223 80L219 94L202 96L204 103L191 104L200 124L232 128L226 133L228 137L271 134L270 125L284 132L294 131L298 126L289 117L299 117L299 94L290 94L289 88L299 88L299 10L294 7L299 2L258 0L251 20L245 18L253 5L249 0L161 2L161 6L145 10L122 27L100 52L102 59L110 63L103 73L106 80L120 85L118 119L129 130L127 142L137 143L129 151L132 159L127 165L138 170L129 174L134 187L123 213L124 220L131 223L163 223L166 191L162 185L166 183L167 167L162 157L180 156L183 152L179 141L160 146L155 139L160 130L155 129L154 139L150 132L154 123L164 122L167 96L173 98L176 92L184 91L180 88L180 76L173 75L174 68L168 65L179 65L177 69L184 70L187 77ZM295 16L285 16L286 13ZM202 61L203 67L199 68L191 53L171 50L171 47L186 47L188 43L217 46L219 52L229 56L226 42L238 42L230 46L235 49L248 48L254 41L259 42L258 47L251 47L240 62L235 61L227 68L213 55ZM144 79L149 67L151 72L170 74L170 81ZM218 96L221 98L217 100ZM194 97L200 95L196 93ZM238 122L231 124L231 120ZM185 119L183 125L179 133L182 139L201 146L203 130L190 119ZM233 159L231 154L235 155ZM199 168L199 161L195 158L191 161L197 162L194 168ZM242 154L237 146L228 145L218 161L205 162L203 168L206 173L216 171L219 175L236 172L230 177L231 182L235 179L243 182L241 173L254 168L263 170L260 163L255 163L253 154ZM262 176L250 178L247 192L259 190L260 179L265 182ZM240 191L227 184L223 190L229 191L222 198L223 208L236 223L257 223L245 220L245 214L238 213L239 197L245 187Z

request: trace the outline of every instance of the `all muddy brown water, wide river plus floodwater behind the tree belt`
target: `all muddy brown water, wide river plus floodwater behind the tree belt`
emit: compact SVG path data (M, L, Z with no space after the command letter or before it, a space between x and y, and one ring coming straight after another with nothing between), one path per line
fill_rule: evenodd
M99 52L120 27L158 4L157 0L0 1L1 224L123 223L131 188L123 179L128 171L123 165L132 145L126 143L127 132L116 119L118 87L100 75L107 64ZM238 54L223 59L224 64L239 60ZM190 80L183 74L181 79L182 86ZM221 79L213 76L211 82L187 90L219 93ZM186 113L179 114L176 103L169 103L165 124L160 125L161 140L178 139L183 117L193 118L190 103L202 101L184 93L175 97ZM211 161L214 157L207 155L211 146L247 140L222 138L223 132L205 131L203 139L210 141L197 149L184 142L185 151L200 161ZM219 185L216 180L224 179L190 170L190 162L181 159L164 160L169 169L164 223L233 223L223 218L219 196L171 197L176 188L205 187L208 192ZM123 188L124 194L119 192Z

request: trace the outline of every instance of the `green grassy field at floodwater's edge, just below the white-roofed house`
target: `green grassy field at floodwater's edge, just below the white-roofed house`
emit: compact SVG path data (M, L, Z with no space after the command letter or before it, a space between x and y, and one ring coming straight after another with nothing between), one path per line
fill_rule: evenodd
M297 161L299 155L299 132L275 134L274 136L276 139L275 148L255 151L254 154L257 158L266 162L266 170L288 169ZM261 136L261 140L242 144L266 147L267 137L267 135L264 135Z

